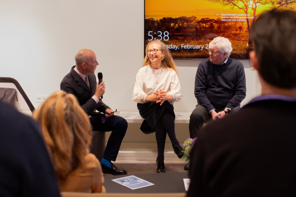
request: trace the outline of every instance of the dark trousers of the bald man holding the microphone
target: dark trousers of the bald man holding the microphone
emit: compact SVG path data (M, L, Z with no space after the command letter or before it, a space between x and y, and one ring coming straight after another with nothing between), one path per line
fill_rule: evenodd
M124 118L113 115L112 117L107 118L105 123L103 123L102 118L104 117L105 114L92 114L90 122L93 131L111 131L103 158L115 162L122 139L127 130L127 122Z

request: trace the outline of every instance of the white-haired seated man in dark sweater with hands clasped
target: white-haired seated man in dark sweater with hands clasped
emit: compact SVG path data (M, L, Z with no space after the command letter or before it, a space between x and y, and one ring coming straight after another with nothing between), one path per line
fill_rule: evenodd
M206 121L240 109L246 97L244 66L229 58L231 51L229 39L216 37L209 44L210 58L198 66L194 90L197 105L189 121L191 138L197 137Z

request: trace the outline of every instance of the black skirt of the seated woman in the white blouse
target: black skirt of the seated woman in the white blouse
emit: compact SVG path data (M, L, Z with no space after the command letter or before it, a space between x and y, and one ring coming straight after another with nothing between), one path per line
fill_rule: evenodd
M169 110L175 120L174 107L169 101L164 101L162 105L156 102L138 103L140 115L145 118L140 129L146 134L155 132L156 124L158 123L164 110Z

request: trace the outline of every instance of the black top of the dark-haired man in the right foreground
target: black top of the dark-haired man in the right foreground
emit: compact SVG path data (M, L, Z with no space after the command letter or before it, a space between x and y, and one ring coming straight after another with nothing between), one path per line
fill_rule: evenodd
M296 197L296 102L248 103L196 140L187 197Z

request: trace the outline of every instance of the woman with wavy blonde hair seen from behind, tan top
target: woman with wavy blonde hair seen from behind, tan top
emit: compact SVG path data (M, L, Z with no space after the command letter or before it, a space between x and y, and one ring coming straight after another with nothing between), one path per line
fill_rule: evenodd
M33 113L62 192L106 193L99 160L89 153L90 122L72 94L52 94Z

